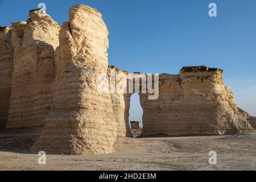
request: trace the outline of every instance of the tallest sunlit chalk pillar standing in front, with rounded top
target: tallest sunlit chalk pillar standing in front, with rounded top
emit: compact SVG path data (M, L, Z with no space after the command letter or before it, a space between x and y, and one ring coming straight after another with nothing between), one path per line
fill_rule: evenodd
M42 136L31 148L47 154L103 154L117 137L110 94L97 90L108 71L108 30L97 10L76 5L60 31L53 105Z

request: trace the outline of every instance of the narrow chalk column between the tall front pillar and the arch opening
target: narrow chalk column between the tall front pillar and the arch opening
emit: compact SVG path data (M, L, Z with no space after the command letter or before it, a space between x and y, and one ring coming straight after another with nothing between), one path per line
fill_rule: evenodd
M115 120L118 123L117 135L122 137L132 137L133 135L131 134L129 125L129 109L131 94L129 94L127 90L127 78L129 77L128 73L125 71L121 71L121 69L118 69L117 67L109 66L108 75L109 78L112 75L115 76L113 78L115 79L115 92L112 92L112 105ZM117 90L122 90L123 92L117 92Z

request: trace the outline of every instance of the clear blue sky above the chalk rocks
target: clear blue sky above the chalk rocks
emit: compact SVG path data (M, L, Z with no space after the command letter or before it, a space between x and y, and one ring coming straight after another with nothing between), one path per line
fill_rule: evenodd
M255 0L0 0L0 26L26 20L40 2L59 24L72 5L100 11L110 32L109 64L130 73L177 74L187 65L224 69L238 106L256 115ZM210 2L217 17L208 15Z

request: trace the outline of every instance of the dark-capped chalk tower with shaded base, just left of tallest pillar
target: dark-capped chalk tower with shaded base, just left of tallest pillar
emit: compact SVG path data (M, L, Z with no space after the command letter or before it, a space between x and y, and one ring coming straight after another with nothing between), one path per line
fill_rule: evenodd
M54 51L59 25L49 15L30 11L27 22L13 23L14 69L7 129L44 126L52 101Z

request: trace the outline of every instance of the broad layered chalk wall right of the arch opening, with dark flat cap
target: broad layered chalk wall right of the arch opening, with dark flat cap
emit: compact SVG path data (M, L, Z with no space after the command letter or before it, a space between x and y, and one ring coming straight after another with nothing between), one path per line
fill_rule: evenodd
M222 135L254 131L223 85L222 70L184 67L179 75L159 76L159 98L140 94L142 136Z

